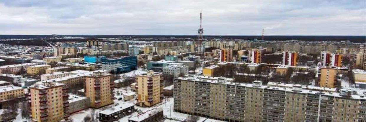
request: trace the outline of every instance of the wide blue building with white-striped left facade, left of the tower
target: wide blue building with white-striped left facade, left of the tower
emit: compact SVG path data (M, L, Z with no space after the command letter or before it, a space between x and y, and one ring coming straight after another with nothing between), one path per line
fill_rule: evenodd
M101 62L103 70L108 70L114 73L129 72L131 70L136 70L137 68L136 56L109 59L104 58Z

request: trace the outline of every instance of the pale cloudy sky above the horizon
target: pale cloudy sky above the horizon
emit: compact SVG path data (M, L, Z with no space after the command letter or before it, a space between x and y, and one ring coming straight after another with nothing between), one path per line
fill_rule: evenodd
M0 34L365 35L365 0L0 0Z

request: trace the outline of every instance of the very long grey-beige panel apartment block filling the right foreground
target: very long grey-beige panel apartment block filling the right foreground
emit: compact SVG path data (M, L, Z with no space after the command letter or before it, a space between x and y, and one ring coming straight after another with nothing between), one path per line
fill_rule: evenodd
M228 122L365 121L366 98L352 91L322 92L234 83L231 78L187 75L174 81L174 111Z

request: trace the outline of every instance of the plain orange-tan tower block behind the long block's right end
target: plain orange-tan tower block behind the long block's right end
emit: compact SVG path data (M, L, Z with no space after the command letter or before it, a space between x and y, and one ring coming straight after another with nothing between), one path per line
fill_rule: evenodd
M337 82L336 68L329 68L329 67L321 68L320 81L319 81L320 87L334 88L336 82Z

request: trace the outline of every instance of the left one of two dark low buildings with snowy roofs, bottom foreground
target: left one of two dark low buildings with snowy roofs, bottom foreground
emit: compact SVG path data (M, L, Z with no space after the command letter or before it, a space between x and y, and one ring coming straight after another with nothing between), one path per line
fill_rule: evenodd
M135 105L125 103L99 112L99 121L114 122L118 119L135 112Z

